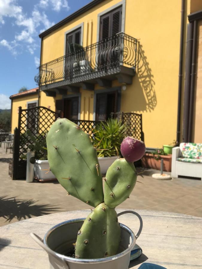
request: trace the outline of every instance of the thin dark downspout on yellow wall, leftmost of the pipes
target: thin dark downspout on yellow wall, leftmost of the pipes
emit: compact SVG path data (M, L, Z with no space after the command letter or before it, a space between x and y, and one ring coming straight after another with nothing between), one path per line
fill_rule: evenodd
M179 60L179 80L178 80L178 102L177 102L177 138L176 143L180 141L180 112L181 112L181 93L182 93L182 59L183 59L183 37L184 37L184 5L185 0L182 0L181 8L181 29L180 29L180 60Z

